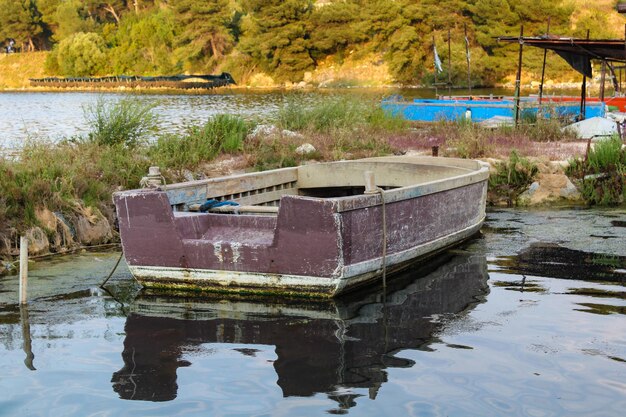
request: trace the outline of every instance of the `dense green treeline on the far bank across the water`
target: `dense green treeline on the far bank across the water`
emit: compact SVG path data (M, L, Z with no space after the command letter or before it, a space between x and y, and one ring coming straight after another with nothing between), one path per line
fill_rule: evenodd
M0 40L22 51L51 50L47 72L65 76L263 72L302 80L329 59L378 56L398 82L465 83L464 28L472 82L514 72L515 45L498 35L550 32L620 37L617 0L0 0ZM584 5L584 6L583 6ZM447 61L448 30L452 63ZM541 65L540 51L531 60ZM534 68L534 69L536 69ZM531 68L533 70L533 68Z

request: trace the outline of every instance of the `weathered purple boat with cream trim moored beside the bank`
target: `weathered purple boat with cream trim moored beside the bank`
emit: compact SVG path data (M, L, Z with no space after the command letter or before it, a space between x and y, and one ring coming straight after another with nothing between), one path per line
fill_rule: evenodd
M344 180L358 185L363 170L381 178L384 201L380 194L296 195ZM228 178L180 189L201 200L220 181L230 181L234 191L224 195L243 200L263 175L242 176L244 186ZM479 230L485 216L488 171L474 161L375 158L280 175L293 176L289 184L296 188L279 197L276 215L174 211L183 205L177 188L116 193L131 272L149 287L330 297L380 279L383 267L393 272L459 243ZM410 184L420 176L427 180Z

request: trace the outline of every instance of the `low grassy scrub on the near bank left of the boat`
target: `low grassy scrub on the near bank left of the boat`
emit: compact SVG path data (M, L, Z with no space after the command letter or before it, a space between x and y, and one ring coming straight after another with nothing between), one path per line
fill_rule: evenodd
M147 168L147 159L121 145L29 142L19 158L0 158L0 234L36 226L36 208L71 213L81 200L108 205L117 187L136 188Z

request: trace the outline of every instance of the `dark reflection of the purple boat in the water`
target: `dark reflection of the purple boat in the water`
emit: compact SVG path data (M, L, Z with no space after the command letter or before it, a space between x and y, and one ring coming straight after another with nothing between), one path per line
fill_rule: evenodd
M370 292L264 303L142 295L126 321L124 367L113 374L113 389L123 399L172 400L177 369L194 366L198 346L236 343L276 347L273 365L284 396L328 393L346 404L350 388L367 388L373 398L387 379L386 368L412 365L395 353L428 346L442 329L433 316L464 311L487 288L484 256L461 253L436 258L428 270L405 272L386 297ZM238 351L254 355L253 349Z

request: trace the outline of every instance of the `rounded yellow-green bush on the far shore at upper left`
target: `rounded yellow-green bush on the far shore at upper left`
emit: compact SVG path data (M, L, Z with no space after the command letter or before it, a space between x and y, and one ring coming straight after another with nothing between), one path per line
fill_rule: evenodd
M102 72L106 63L106 45L96 33L79 32L59 43L55 57L65 76L96 75Z

